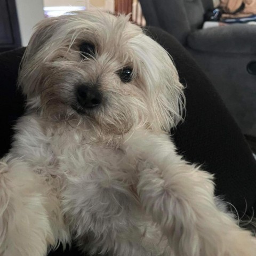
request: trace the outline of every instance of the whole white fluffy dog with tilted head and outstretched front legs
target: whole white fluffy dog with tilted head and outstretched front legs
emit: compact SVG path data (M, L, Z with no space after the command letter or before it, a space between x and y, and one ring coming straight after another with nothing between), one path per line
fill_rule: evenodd
M43 20L19 84L27 112L0 164L1 256L44 256L71 238L91 254L256 255L212 175L177 155L167 133L182 85L129 17Z

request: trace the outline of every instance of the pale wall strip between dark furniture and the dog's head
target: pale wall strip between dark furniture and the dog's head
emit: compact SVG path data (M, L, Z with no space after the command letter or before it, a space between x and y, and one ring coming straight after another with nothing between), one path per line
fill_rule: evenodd
M43 0L15 0L18 12L21 44L26 46L33 27L44 19Z

